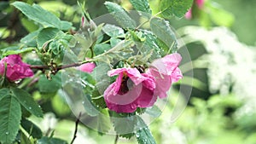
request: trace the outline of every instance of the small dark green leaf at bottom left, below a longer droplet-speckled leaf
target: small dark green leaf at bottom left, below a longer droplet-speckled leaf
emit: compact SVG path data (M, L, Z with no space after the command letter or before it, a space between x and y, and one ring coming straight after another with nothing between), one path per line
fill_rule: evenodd
M42 130L26 118L21 119L21 126L29 135L32 135L33 138L40 139L43 136Z

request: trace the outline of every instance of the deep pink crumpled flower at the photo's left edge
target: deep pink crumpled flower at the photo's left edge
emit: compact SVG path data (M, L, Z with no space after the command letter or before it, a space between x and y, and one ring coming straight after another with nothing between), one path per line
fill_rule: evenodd
M20 55L9 55L0 60L0 75L2 76L5 71L5 63L7 65L6 77L9 81L28 78L34 75L30 65L22 62Z

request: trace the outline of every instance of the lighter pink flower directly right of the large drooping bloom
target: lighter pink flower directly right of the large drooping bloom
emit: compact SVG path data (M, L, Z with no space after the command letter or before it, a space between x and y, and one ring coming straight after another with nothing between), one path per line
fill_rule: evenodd
M183 78L182 72L177 67L181 60L181 55L177 53L154 60L147 71L149 75L154 76L154 95L165 98L167 96L166 92L171 88L172 83Z

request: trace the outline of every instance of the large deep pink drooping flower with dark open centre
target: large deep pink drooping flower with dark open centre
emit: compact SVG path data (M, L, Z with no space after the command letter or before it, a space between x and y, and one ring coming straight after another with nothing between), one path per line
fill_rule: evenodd
M154 78L140 73L136 68L118 68L108 72L108 76L119 75L104 92L107 107L114 112L135 112L137 107L152 107Z

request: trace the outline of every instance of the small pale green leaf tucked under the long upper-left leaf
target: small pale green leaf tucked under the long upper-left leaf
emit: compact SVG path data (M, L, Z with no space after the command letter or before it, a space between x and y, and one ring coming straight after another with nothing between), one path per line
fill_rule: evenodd
M36 47L37 38L40 31L41 29L39 29L38 31L29 33L28 35L26 35L26 37L23 37L20 39L20 43L25 43L26 46L29 46L29 47Z

